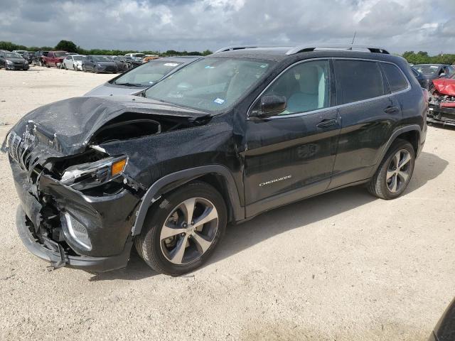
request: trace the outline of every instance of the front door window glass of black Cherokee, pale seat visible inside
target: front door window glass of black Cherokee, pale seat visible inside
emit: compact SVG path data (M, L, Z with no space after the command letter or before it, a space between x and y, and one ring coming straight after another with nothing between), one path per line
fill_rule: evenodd
M280 115L311 112L330 107L330 64L328 60L304 62L284 72L264 92L284 96L287 108Z

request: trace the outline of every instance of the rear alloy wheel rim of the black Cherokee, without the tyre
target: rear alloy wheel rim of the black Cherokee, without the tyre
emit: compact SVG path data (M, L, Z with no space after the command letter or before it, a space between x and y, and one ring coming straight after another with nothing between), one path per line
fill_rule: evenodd
M407 185L412 171L411 158L409 151L401 149L395 153L390 161L387 168L386 183L391 193L400 192Z

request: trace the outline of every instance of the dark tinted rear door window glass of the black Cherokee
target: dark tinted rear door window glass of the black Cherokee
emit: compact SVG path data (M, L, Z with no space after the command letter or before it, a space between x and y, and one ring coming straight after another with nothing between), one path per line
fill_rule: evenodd
M379 65L365 60L335 60L336 82L341 97L338 104L346 104L382 96L384 82Z

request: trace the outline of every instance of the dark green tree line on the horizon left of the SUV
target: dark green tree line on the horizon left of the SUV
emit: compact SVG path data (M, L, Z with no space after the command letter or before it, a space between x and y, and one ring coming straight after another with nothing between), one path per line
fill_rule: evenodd
M161 57L167 55L210 55L212 51L205 50L200 51L176 51L176 50L167 50L165 52L160 51L137 51L137 50L103 50L100 48L85 49L81 48L79 45L73 43L70 40L60 40L57 45L54 47L50 46L24 46L11 43L11 41L0 41L0 50L26 50L26 51L52 51L52 50L63 50L66 52L80 53L81 55L126 55L127 53L144 53L144 55L160 55Z

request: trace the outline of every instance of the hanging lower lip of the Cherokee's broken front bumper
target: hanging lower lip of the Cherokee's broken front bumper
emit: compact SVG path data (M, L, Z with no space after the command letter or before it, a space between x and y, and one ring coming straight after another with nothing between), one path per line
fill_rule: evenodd
M38 242L30 231L30 225L25 212L19 205L16 211L16 226L19 237L23 245L32 254L44 261L50 262L51 266L58 269L62 266L68 266L75 269L83 269L92 272L105 272L115 269L121 269L127 266L129 253L132 248L132 240L125 245L122 254L109 257L92 257L92 256L71 256L66 253L60 244L51 239L47 239L45 244Z

